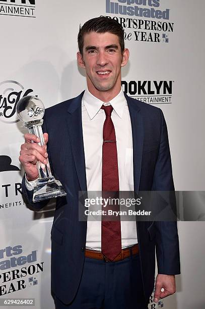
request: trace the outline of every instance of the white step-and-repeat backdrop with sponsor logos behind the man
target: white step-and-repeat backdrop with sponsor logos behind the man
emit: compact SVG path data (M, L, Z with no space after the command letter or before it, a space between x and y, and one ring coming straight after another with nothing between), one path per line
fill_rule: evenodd
M50 229L55 202L40 213L22 198L18 160L25 129L18 100L38 95L45 107L86 87L77 66L79 24L97 16L125 29L128 95L164 112L176 190L204 190L204 2L198 0L0 1L0 298L35 298L54 308L50 293ZM56 128L57 130L57 128ZM193 203L194 207L194 203ZM149 308L202 309L205 304L203 222L178 222L181 275L177 293Z

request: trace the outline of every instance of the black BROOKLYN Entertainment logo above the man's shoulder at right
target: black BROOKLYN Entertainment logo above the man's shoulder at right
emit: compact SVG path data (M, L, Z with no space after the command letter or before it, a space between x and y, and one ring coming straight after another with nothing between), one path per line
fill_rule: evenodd
M171 104L173 83L172 80L121 81L125 93L148 104Z

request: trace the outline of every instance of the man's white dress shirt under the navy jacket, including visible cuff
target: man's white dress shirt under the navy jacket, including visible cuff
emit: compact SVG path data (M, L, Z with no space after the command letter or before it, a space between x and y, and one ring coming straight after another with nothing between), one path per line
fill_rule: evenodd
M133 191L132 130L129 110L123 91L104 103L86 89L82 98L82 126L88 191L102 190L102 144L105 112L102 105L111 105L111 119L115 128L119 190ZM26 186L32 190L36 181ZM121 221L122 248L138 243L135 221ZM86 247L101 251L101 221L89 221Z

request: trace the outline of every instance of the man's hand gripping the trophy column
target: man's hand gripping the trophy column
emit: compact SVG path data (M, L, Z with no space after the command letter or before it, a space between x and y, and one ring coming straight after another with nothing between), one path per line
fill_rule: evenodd
M36 166L37 161L40 161L43 164L48 162L48 153L46 152L48 134L44 133L43 137L45 145L41 147L38 145L40 139L36 135L29 133L24 135L25 143L21 145L19 161L24 168L28 181L33 181L39 177Z

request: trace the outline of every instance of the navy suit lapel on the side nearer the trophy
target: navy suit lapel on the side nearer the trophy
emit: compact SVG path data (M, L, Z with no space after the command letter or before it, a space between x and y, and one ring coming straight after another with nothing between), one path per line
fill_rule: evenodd
M83 128L82 128L82 92L78 97L74 98L69 105L66 121L71 140L73 158L75 162L76 172L82 191L87 191L86 181L86 165L83 144Z

